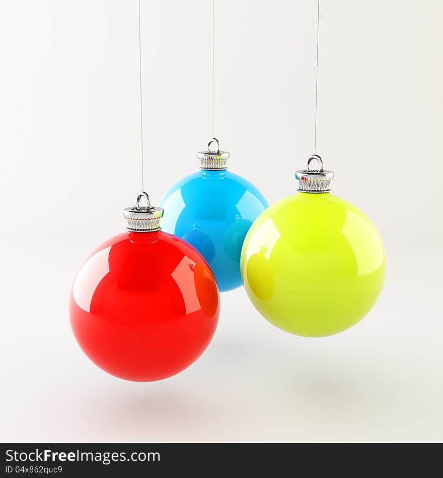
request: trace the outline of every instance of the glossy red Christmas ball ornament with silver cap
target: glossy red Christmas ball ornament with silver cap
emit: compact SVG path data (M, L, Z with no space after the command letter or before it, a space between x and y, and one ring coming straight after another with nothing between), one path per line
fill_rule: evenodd
M82 350L106 372L160 380L184 370L208 346L218 289L202 256L160 230L163 209L151 206L146 193L123 214L127 232L96 248L73 281L70 323Z

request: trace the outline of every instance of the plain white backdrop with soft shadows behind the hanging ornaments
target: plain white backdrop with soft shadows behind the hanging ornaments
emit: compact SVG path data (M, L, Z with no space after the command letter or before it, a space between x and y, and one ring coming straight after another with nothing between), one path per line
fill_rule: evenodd
M313 152L316 1L215 5L216 135L272 203ZM156 203L212 133L210 2L142 0L141 16ZM67 296L141 186L137 2L1 0L0 438L442 440L442 19L440 0L321 1L318 153L385 242L371 313L306 339L238 289L200 360L131 383L81 352Z

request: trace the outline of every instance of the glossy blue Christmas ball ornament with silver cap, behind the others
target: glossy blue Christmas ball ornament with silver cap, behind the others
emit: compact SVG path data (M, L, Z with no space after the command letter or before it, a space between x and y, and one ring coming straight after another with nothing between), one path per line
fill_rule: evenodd
M220 151L217 139L197 156L200 171L175 184L160 202L168 211L163 228L200 251L224 292L242 285L243 240L268 204L254 185L227 170L230 154Z

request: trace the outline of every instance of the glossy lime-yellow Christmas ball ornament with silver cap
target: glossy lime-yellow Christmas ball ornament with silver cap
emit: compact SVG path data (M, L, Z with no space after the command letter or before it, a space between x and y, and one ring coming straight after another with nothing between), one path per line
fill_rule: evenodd
M311 169L317 160L318 170ZM334 174L320 156L297 171L298 192L271 205L245 238L241 271L246 292L271 324L321 337L364 317L383 287L386 257L370 219L332 195Z

